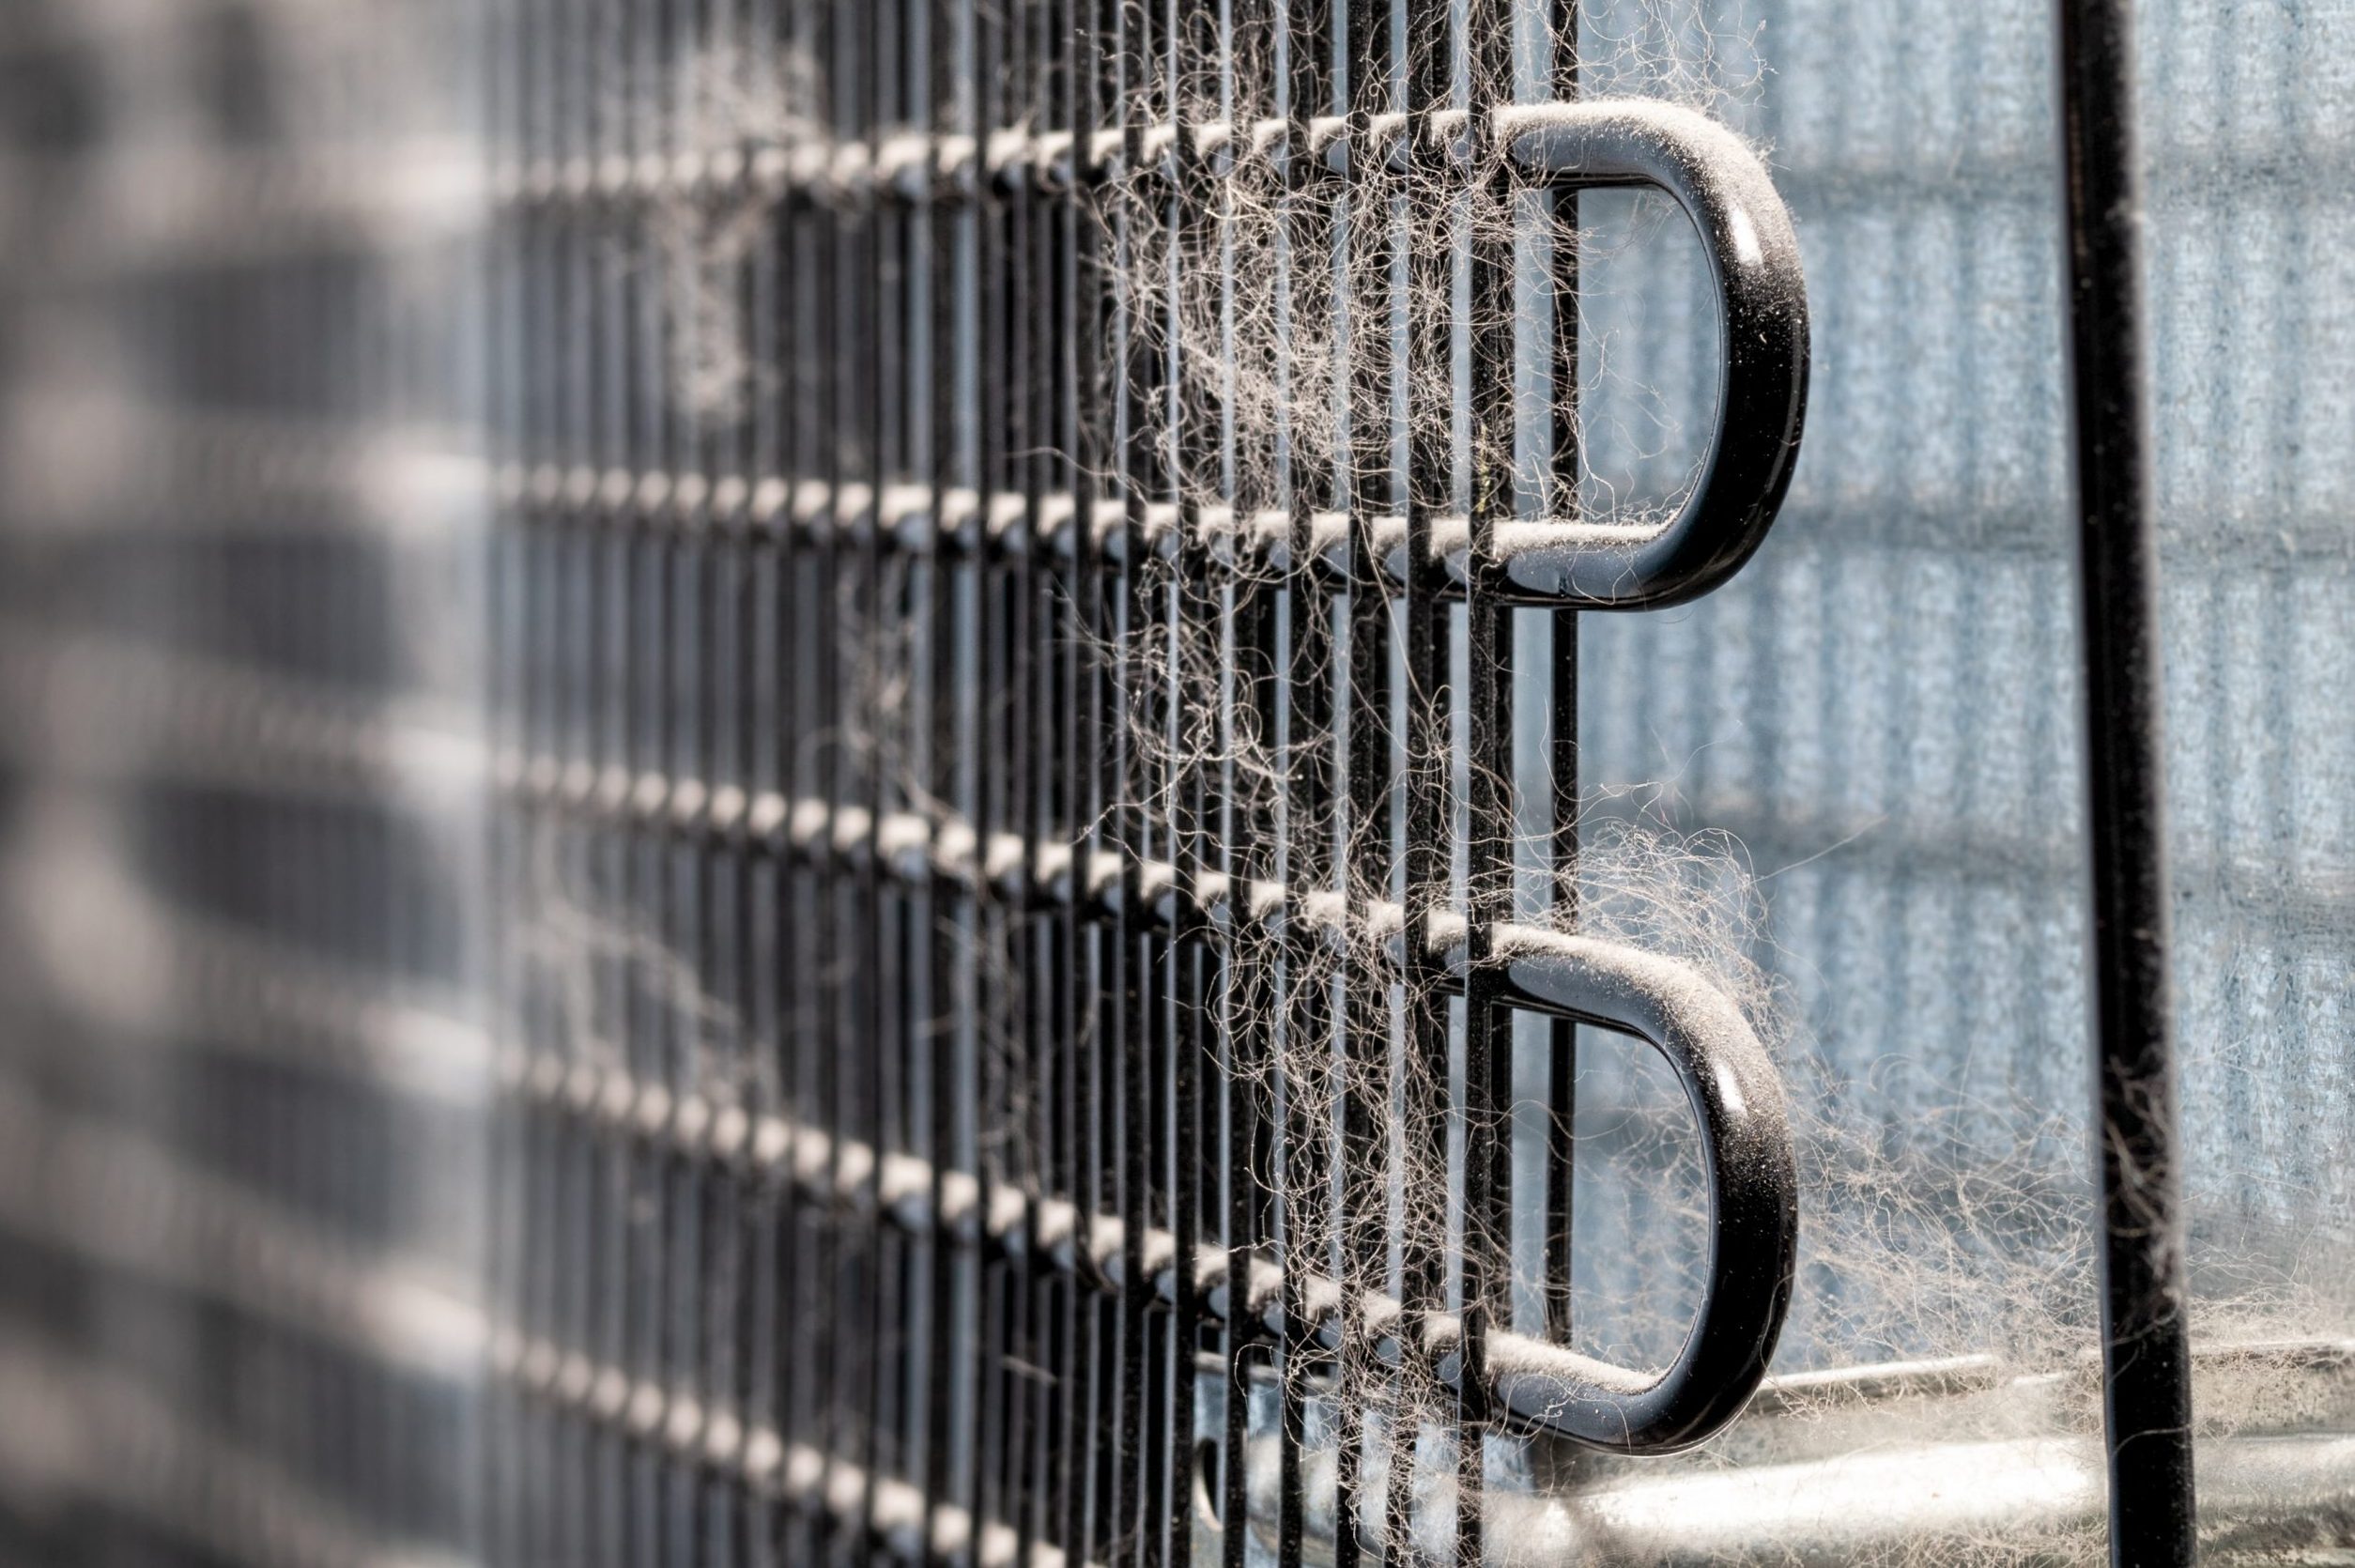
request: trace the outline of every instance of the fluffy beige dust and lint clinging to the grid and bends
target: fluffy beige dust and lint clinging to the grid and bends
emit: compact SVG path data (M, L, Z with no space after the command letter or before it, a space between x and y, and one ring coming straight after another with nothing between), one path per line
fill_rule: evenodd
M1578 40L1587 92L1641 92L1726 113L1757 92L1747 52L1731 47L1729 38L1738 40L1743 31L1722 21L1700 26L1679 5L1604 7ZM1276 75L1272 40L1234 31L1225 42L1225 66L1189 71L1175 82L1180 134L1199 132L1185 160L1201 160L1210 172L1199 181L1203 202L1180 210L1159 167L1116 172L1093 195L1102 217L1097 261L1109 290L1107 353L1102 365L1081 367L1083 377L1097 379L1079 403L1100 419L1088 433L1088 452L1128 452L1140 461L1100 464L1097 492L1072 497L1074 527L1095 527L1095 518L1121 513L1147 518L1147 532L1175 527L1185 537L1173 551L1178 560L1130 542L1137 558L1133 619L1107 612L1095 624L1081 624L1083 617L1072 610L1062 626L1062 636L1083 640L1083 662L1119 704L1119 751L1130 770L1130 793L1142 803L1142 838L1119 810L1126 803L1107 800L1102 819L1083 824L1095 829L1095 838L1053 848L1081 857L1097 845L1114 848L1130 859L1170 862L1182 881L1229 878L1229 890L1241 890L1253 873L1239 850L1246 824L1272 824L1274 841L1291 845L1258 869L1262 878L1286 883L1281 935L1241 921L1232 963L1210 1001L1222 1038L1255 1048L1229 1050L1227 1062L1239 1076L1206 1092L1213 1099L1220 1088L1248 1095L1262 1116L1316 1130L1324 1154L1345 1125L1368 1128L1368 1142L1349 1161L1286 1149L1253 1177L1269 1184L1283 1212L1283 1255L1338 1283L1342 1316L1359 1342L1408 1330L1406 1354L1389 1361L1349 1354L1335 1373L1295 1358L1293 1375L1314 1380L1319 1401L1331 1387L1338 1389L1338 1406L1364 1413L1361 1441L1373 1455L1368 1490L1404 1457L1418 1471L1420 1495L1427 1490L1422 1476L1455 1467L1453 1439L1446 1436L1455 1429L1455 1391L1439 1380L1437 1356L1413 1347L1413 1316L1404 1323L1389 1316L1368 1321L1361 1304L1408 1300L1413 1311L1418 1285L1432 1283L1415 1278L1425 1260L1401 1238L1437 1238L1448 1278L1465 1241L1467 1217L1453 1198L1462 1191L1460 1062L1420 1057L1404 1024L1418 1008L1448 1015L1451 1003L1415 996L1401 968L1413 932L1404 930L1401 826L1389 805L1404 779L1434 760L1460 800L1467 779L1455 777L1448 758L1418 758L1413 744L1420 737L1429 746L1437 737L1437 746L1453 756L1448 737L1467 723L1460 713L1465 692L1451 685L1408 690L1397 605L1366 614L1342 591L1335 614L1324 589L1298 593L1281 551L1269 546L1293 537L1300 516L1345 509L1352 469L1359 471L1359 494L1375 511L1394 509L1404 492L1397 459L1408 452L1462 454L1453 473L1455 506L1470 506L1481 487L1517 497L1524 511L1568 499L1550 473L1550 452L1517 440L1510 428L1472 428L1465 386L1472 356L1510 341L1514 327L1521 339L1545 339L1557 308L1543 287L1545 261L1571 235L1543 200L1512 193L1500 148L1486 139L1472 144L1477 167L1470 174L1385 172L1361 181L1319 174L1288 186L1283 160L1300 153L1286 146L1281 129L1260 127L1279 113L1265 97ZM1528 49L1528 57L1538 59L1543 49ZM1528 75L1538 78L1535 71ZM1486 87L1493 92L1481 97L1491 101L1538 97L1517 94L1510 82ZM782 59L747 71L744 61L725 54L697 59L688 66L683 94L695 111L669 127L674 151L711 160L772 153L794 162L824 146L829 115L820 101L820 73L808 61ZM1229 160L1236 165L1232 172ZM747 306L768 200L756 186L725 186L718 195L683 188L657 198L650 210L655 242L648 264L662 278L671 346L666 372L678 407L699 428L732 426L777 391L777 367L761 363ZM1590 275L1608 273L1606 257L1594 254L1606 235L1590 231L1580 242L1594 264ZM1472 292L1462 278L1470 247L1517 257L1524 287L1510 290L1510 299L1521 320L1470 318ZM1418 287L1429 278L1448 278L1451 285ZM1528 278L1540 283L1526 285ZM970 278L944 280L942 287L970 287ZM1587 360L1599 384L1547 386L1543 377L1531 377L1517 403L1524 424L1550 417L1575 431L1590 410L1601 407L1618 419L1630 400L1644 405L1641 384L1611 386L1613 377L1637 374L1641 356L1623 367L1611 351L1616 318L1592 299L1578 308L1597 311ZM977 398L984 410L991 405L991 388L973 384L968 358L935 346L935 360L956 363L954 374L963 379L958 396ZM1126 396L1123 379L1133 381ZM1429 396L1434 386L1446 396ZM1392 431L1387 461L1375 459L1371 469L1368 445L1380 443L1354 440L1368 428ZM1611 443L1625 447L1625 428L1601 438L1601 445ZM956 483L987 494L977 459L963 452L958 464L963 473ZM904 478L930 483L918 473ZM1585 516L1613 523L1656 516L1677 499L1594 483L1575 490ZM1368 520L1356 518L1354 525L1366 527ZM860 777L881 775L893 798L930 822L933 850L940 852L949 833L966 829L956 822L956 803L940 798L930 746L942 732L987 744L987 732L970 716L942 723L944 706L963 702L926 673L935 652L928 638L944 636L944 629L926 633L914 617L897 614L897 607L926 603L930 570L968 567L893 563L885 579L862 596L841 591L836 624L853 692L841 704L843 727L796 739L845 751ZM1243 610L1267 598L1288 600L1269 622L1279 629L1279 645L1246 647L1251 622ZM1331 617L1335 633L1328 699L1342 718L1321 737L1286 735L1281 711L1262 709L1241 676L1262 664L1281 669L1281 659L1307 636L1309 617ZM1380 640L1371 659L1356 657L1354 638L1361 636ZM643 652L633 650L633 657ZM1373 702L1354 716L1347 680L1340 678L1352 664L1378 676ZM1295 716L1300 699L1300 692L1288 697ZM1382 730L1371 746L1354 735L1366 718ZM1331 784L1321 805L1312 805L1307 791L1316 760L1312 749L1324 751ZM1371 819L1345 808L1356 791L1338 760L1342 756L1380 758L1385 808ZM1196 819L1196 798L1220 805ZM1915 1107L1903 1123L1893 1123L1886 1116L1889 1083L1860 1092L1865 1085L1853 1074L1835 1069L1811 1048L1780 977L1769 883L1752 871L1740 843L1651 824L1639 800L1587 805L1592 826L1575 871L1559 888L1531 888L1524 876L1514 918L1686 961L1740 1005L1783 1062L1802 1158L1802 1260L1776 1370L1976 1356L1983 1361L1973 1375L1992 1389L2037 1384L2032 1420L2039 1431L2096 1434L2098 1389L2087 1373L2098 1333L2091 1194L2084 1180L2054 1182L2049 1175L2056 1140L2082 1144L2082 1109L1990 1102L1964 1090L1962 1064L1917 1062L1903 1041L1891 1041L1889 1057L1872 1071L1908 1078L1908 1104ZM1543 822L1547 812L1543 800L1521 803L1519 819ZM1453 803L1446 822L1455 822ZM824 831L838 826L834 822ZM1321 885L1298 881L1307 843L1333 850L1326 859L1335 871ZM714 996L706 977L666 944L657 923L617 909L593 878L568 862L556 829L535 848L539 899L520 928L523 951L535 972L558 977L553 1001L577 1055L610 1069L631 1059L624 1019L601 1001L612 994L603 979L610 965L633 965L645 989L669 998L671 1012L688 1019L692 1038L718 1038L742 1026L735 1017L742 1001ZM1528 845L1458 843L1451 850L1458 913L1465 862L1500 857L1526 866L1547 857L1535 836ZM1258 895L1243 892L1227 897L1232 906L1258 902ZM1003 998L1020 972L1003 925L951 904L956 899L928 906L956 954L951 968L961 979L949 989L977 1005L975 1059L989 1062L1003 1085L1036 1083L1022 1019L991 1001ZM1314 935L1302 939L1302 930ZM1307 998L1324 1003L1328 1029L1300 1026ZM958 1026L947 1017L954 1003L935 996L933 1005L942 1017L930 1026ZM1375 1024L1371 1041L1364 1034L1368 1019ZM699 1055L695 1092L714 1104L737 1102L749 1090L742 1074L739 1055ZM1597 1069L1597 1076L1606 1074ZM1003 1114L1001 1125L961 1130L958 1149L949 1154L987 1158L1010 1180L1041 1184L1039 1161L1027 1149L1031 1104L1010 1092L994 1109ZM1222 1121L1218 1111L1206 1116L1213 1118ZM1528 1104L1510 1109L1517 1135L1540 1118ZM1660 1116L1634 1128L1613 1158L1639 1172L1644 1191L1627 1196L1623 1212L1630 1234L1641 1224L1653 1243L1623 1248L1608 1264L1592 1267L1594 1311L1583 1302L1573 1316L1583 1333L1599 1335L1599 1351L1672 1351L1681 1321L1665 1321L1663 1330L1660 1321L1627 1326L1627 1314L1641 1318L1651 1309L1658 1316L1693 1297L1705 1234L1693 1196L1698 1156L1689 1128L1677 1116ZM1526 1304L1550 1295L1557 1281L1535 1274L1535 1253L1526 1243L1517 1245L1512 1236L1481 1241L1514 1262L1507 1295L1517 1302L1517 1323L1526 1326ZM2343 1333L2346 1314L2331 1304L2343 1300L2275 1271L2251 1278L2237 1295L2202 1295L2200 1330L2209 1344ZM1422 1304L1451 1309L1448 1300ZM1597 1326L1587 1326L1590 1316ZM2202 1429L2221 1434L2301 1420L2313 1380L2280 1373L2280 1358L2263 1356L2204 1361ZM1331 1377L1338 1384L1328 1384ZM1762 1422L1764 1431L1736 1424L1679 1464L1705 1469L1776 1460L1830 1441L1825 1434L1849 1431L1844 1422L1858 1410L1856 1396L1837 1387L1811 1391L1809 1384L1790 1384L1776 1391L1773 1403L1778 1415L1771 1424ZM1973 1406L1917 1406L1917 1439L2011 1431L2025 1408L1992 1396ZM1856 1441L1886 1443L1891 1431L1903 1436L1903 1415L1900 1408L1891 1427L1886 1413L1877 1413L1877 1424L1856 1427ZM1488 1474L1498 1486L1526 1486L1533 1469L1545 1464L1512 1441L1491 1439ZM1387 1526L1378 1497L1366 1502L1366 1523L1380 1533ZM1427 1526L1408 1526L1408 1537L1375 1544L1392 1561L1406 1561L1432 1547L1432 1535ZM2101 1542L2063 1533L2039 1544L2061 1561L2094 1561Z

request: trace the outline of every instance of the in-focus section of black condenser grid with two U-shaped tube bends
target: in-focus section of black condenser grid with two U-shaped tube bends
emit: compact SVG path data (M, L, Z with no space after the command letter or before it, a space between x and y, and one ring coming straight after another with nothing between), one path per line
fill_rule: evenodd
M1253 80L1246 35L1288 64ZM1514 925L1498 845L1514 680L1545 685L1575 800L1575 610L1707 591L1771 520L1797 259L1752 155L1698 115L1575 104L1568 71L1557 106L1455 101L1446 61L1505 38L1422 5L1399 38L1380 7L506 14L502 1561L1239 1563L1251 1535L1210 1516L1253 1509L1300 1561L1309 1443L1335 1455L1338 1561L1434 1528L1472 1561L1481 1434L1672 1450L1757 1384L1795 1234L1773 1071L1677 965ZM716 99L801 134L714 137ZM1203 99L1225 118L1189 120ZM1502 428L1517 353L1575 367L1568 313L1514 337L1493 242L1462 261L1505 337L1467 386L1349 365L1340 471L1206 504L1222 443L1279 436L1215 410L1154 431L1187 393L1137 320L1130 226L1215 273L1222 181L1258 160L1305 257L1333 202L1460 186L1486 139L1557 200L1646 181L1693 217L1726 353L1684 511L1613 532L1517 516L1495 476L1460 494L1446 450L1392 466L1394 391ZM718 280L747 339L718 410L678 393L702 330L674 308L683 212L754 214ZM1415 266L1408 290L1448 287L1451 261ZM1552 669L1512 669L1514 614L1557 619ZM1206 626L1218 671L1163 657ZM1170 760L1152 739L1180 713L1281 737L1281 789L1248 791L1232 746ZM1550 843L1575 850L1566 808ZM1342 984L1298 982L1326 946ZM1559 1019L1524 1194L1514 1010ZM1566 1278L1575 1022L1653 1041L1710 1149L1703 1318L1663 1377L1571 1354L1559 1290L1517 1323L1484 1241L1543 1203ZM1406 1125L1458 1170L1448 1236L1389 1217L1394 1031L1422 1069L1397 1092L1441 1097ZM1328 1059L1302 1069L1302 1041ZM1298 1241L1305 1203L1338 1205L1335 1255ZM1415 1502L1418 1439L1385 1415L1418 1368L1453 1389L1446 1504ZM1265 1500L1253 1389L1276 1403Z

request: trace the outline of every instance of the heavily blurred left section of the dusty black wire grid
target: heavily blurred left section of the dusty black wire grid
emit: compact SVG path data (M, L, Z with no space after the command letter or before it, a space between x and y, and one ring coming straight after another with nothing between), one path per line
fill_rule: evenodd
M0 1559L471 1556L464 9L0 12Z

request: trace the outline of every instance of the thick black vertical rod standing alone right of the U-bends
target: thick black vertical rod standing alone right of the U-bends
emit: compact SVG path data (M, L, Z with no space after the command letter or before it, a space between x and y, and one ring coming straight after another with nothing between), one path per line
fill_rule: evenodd
M2197 1547L2183 1168L2167 942L2160 558L2129 0L2058 0L2077 577L2094 897L2110 1561Z

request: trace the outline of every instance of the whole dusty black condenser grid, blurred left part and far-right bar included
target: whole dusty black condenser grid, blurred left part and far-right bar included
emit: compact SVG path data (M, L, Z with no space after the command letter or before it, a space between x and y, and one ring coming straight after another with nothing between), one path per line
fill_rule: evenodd
M447 1288L473 1262L487 1055L452 822L471 753L414 723L440 669L417 650L447 636L464 664L471 607L419 612L419 582L462 577L419 572L419 542L459 551L384 464L393 421L480 417L440 403L466 334L386 266L433 228L431 202L384 195L414 195L417 148L372 146L370 113L334 137L273 125L257 82L287 82L259 42L292 12L195 9L188 47L40 7L0 38L35 106L9 191L45 235L12 257L9 327L57 301L113 323L146 370L122 386L153 398L66 407L120 436L99 443L106 483L45 469L7 497L0 803L42 829L12 836L12 871L49 888L26 845L61 819L35 808L82 798L115 836L71 838L78 864L122 876L101 942L12 930L0 975L14 1041L38 1043L12 1041L0 1090L0 1373L31 1413L0 1544L407 1563L473 1547L487 1481L499 1561L1352 1561L1408 1535L1472 1559L1484 1528L1507 1547L1554 1528L1481 1495L1484 1434L1660 1450L1740 1406L1780 1314L1787 1177L1717 1191L1707 1323L1731 1349L1644 1406L1559 1351L1566 1295L1512 1300L1495 1224L1394 1234L1385 1107L1359 1085L1380 1076L1366 1041L1429 1062L1467 1128L1434 1151L1455 1212L1540 1205L1559 1283L1568 1161L1550 1144L1538 1189L1514 1189L1502 1083L1479 1071L1507 1055L1500 1019L1559 1019L1557 1137L1571 1019L1710 1057L1698 1024L1646 1012L1658 977L1630 956L1519 925L1481 845L1531 815L1498 791L1528 711L1514 685L1543 687L1552 791L1575 798L1575 610L1670 603L1754 546L1797 438L1790 280L1712 245L1726 341L1766 323L1783 346L1729 356L1684 518L1597 542L1495 483L1458 487L1451 452L1394 457L1382 363L1352 367L1373 417L1342 471L1203 501L1251 433L1199 419L1163 440L1135 417L1173 388L1119 268L1140 200L1180 266L1215 273L1239 167L1283 188L1314 252L1319 212L1446 188L1484 137L1533 188L1660 184L1710 245L1733 207L1778 212L1738 148L1658 111L1564 108L1566 68L1552 108L1458 101L1437 64L1507 33L1479 5L1460 24L1408 5L1406 38L1373 7L490 7L490 297L450 271L424 290L480 306L509 443L485 1328ZM2110 1516L2122 1561L2188 1561L2181 1255L2148 1245L2181 1220L2134 75L2117 7L2065 9ZM1281 38L1288 71L1239 68L1246 35ZM101 61L151 54L198 78L214 141L158 165L174 200L92 195L66 177L94 162ZM1502 75L1491 59L1474 80ZM1178 85L1206 80L1229 106L1196 118ZM782 113L716 139L730 101ZM711 337L676 313L676 233L744 210L739 405L714 407L676 391L681 346ZM1458 264L1474 294L1517 266L1479 245ZM1422 266L1404 290L1453 287ZM1460 400L1481 438L1510 424L1500 367L1575 353L1550 323L1514 332L1465 384L1406 398ZM1573 466L1568 431L1552 440ZM450 490L476 478L436 461ZM1550 669L1505 657L1514 617L1554 622ZM1154 626L1225 626L1227 673L1189 687L1196 669L1145 652ZM1470 683L1448 692L1458 650ZM1140 742L1189 704L1279 735L1283 791ZM1488 763L1470 786L1439 763L1458 723L1455 760ZM419 777L424 753L450 777ZM1571 812L1545 826L1573 857ZM1397 892L1349 902L1375 885ZM1439 939L1342 944L1345 984L1293 984L1319 944L1418 930ZM1302 1036L1335 1043L1335 1121L1283 1092ZM1338 1257L1298 1255L1286 1205L1309 1201L1335 1205ZM1451 1391L1427 1439L1458 1469L1413 1495L1389 1462L1408 1358ZM2334 1507L2329 1453L2296 1474L2216 1453L2225 1516L2303 1530Z

